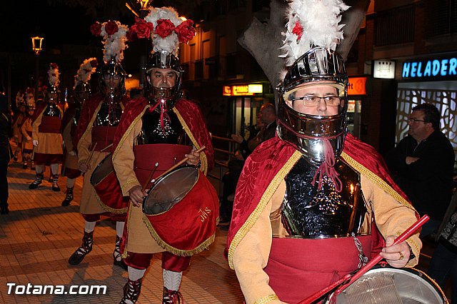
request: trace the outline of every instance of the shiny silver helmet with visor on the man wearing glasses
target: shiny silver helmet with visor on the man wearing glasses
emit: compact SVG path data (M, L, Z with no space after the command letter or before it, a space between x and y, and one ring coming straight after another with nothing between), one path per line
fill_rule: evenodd
M316 116L299 113L286 101L299 102L295 93L303 86L329 84L338 92L338 114ZM308 161L322 163L325 160L323 140L331 143L335 157L343 150L346 136L348 76L343 58L336 51L314 47L298 58L288 69L278 90L278 136L301 151Z

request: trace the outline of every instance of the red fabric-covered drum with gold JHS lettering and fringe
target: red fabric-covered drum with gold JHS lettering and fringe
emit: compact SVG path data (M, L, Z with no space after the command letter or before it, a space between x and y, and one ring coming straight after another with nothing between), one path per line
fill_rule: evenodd
M181 167L155 181L143 211L149 232L162 248L189 256L214 241L219 197L199 169Z

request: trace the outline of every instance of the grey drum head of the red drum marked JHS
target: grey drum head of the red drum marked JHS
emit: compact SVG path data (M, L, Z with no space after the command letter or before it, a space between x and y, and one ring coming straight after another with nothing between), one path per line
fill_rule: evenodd
M156 215L169 211L194 187L199 170L194 167L178 168L159 178L143 201L143 211Z

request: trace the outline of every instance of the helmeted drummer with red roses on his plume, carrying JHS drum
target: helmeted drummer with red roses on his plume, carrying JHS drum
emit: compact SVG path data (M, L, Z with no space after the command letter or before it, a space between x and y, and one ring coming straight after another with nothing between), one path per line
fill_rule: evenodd
M177 53L179 42L187 43L194 37L193 24L191 20L179 19L172 8L151 8L145 20L137 19L131 27L139 37L145 31L136 31L137 29L149 29L144 36L151 36L154 53L145 68L146 98L129 103L121 118L113 147L113 165L117 178L124 196L129 196L131 200L122 246L123 257L129 265L129 280L124 286L121 303L135 303L138 300L146 268L149 267L153 254L160 252L163 252L162 303L180 303L182 272L189 266L191 255L201 252L214 240L219 201L209 182L205 185L207 192L204 192L205 187L198 188L198 197L184 198L188 200L186 205L181 203L170 211L161 213L160 222L157 217L146 216L140 208L146 196L142 186L145 183L151 185L148 180L151 171L155 172L152 177L156 178L186 156L189 158L189 166L199 167L200 183L206 180L204 174L213 165L211 136L199 106L183 98L181 91L183 71ZM167 32L166 29L171 31ZM197 153L196 148L202 146L206 150ZM177 183L173 185L178 187ZM194 208L199 204L208 208ZM192 210L196 211L180 211L175 208L178 206L194 208ZM204 214L201 212L203 209ZM192 235L192 230L197 227L198 235ZM159 233L159 230L166 231ZM184 239L187 249L169 243L167 238Z

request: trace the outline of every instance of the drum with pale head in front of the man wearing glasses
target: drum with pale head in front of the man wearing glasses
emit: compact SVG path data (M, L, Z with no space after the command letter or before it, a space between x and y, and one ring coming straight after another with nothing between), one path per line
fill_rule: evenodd
M448 301L441 288L420 270L373 268L337 295L336 303L443 304Z

